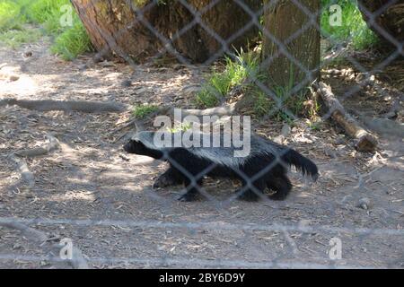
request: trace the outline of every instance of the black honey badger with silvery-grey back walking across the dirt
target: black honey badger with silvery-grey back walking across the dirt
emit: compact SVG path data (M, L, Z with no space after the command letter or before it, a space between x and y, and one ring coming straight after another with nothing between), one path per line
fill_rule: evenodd
M154 132L140 132L124 146L126 152L168 161L170 168L154 183L154 187L184 184L187 192L181 201L192 201L198 195L204 176L238 178L242 188L238 198L254 201L263 196L266 187L275 193L269 196L283 200L292 189L287 168L293 165L303 175L318 177L317 166L299 152L273 143L258 135L250 137L250 155L234 158L234 148L225 147L158 147Z

